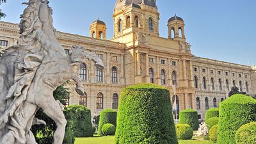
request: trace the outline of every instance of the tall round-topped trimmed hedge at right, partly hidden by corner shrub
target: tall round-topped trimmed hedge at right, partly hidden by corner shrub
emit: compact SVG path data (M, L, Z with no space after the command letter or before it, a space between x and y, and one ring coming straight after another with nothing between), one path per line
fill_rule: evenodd
M218 143L236 143L237 129L255 121L256 100L242 94L232 95L220 103Z

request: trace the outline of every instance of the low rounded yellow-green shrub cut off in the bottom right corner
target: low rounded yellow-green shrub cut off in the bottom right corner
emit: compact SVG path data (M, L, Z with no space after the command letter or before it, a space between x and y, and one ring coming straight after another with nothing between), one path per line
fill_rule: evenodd
M256 143L256 122L245 124L236 132L237 144L255 144Z

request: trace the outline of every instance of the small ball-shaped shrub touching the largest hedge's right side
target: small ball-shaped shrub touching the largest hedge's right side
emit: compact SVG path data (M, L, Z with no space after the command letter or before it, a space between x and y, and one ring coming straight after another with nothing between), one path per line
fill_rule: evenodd
M175 129L179 140L191 140L193 137L193 129L188 124L176 124Z

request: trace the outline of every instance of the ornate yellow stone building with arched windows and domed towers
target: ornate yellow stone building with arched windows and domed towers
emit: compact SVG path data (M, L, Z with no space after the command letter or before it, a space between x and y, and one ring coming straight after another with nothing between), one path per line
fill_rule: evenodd
M57 31L58 42L69 54L72 45L93 51L106 68L95 67L84 60L75 71L84 84L83 97L70 81L68 104L81 104L92 115L102 109L118 108L120 91L136 83L166 86L174 103L173 85L177 93L177 118L182 109L193 108L204 118L209 108L218 108L233 86L249 95L256 93L256 67L228 63L193 55L186 42L185 24L181 17L167 22L168 38L159 36L159 12L153 0L116 0L113 13L114 35L106 40L106 24L95 20L90 37ZM17 44L19 24L0 22L0 45L4 49Z

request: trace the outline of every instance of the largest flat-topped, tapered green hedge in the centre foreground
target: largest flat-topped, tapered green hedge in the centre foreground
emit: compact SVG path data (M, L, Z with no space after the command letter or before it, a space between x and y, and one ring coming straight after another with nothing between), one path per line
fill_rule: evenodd
M177 144L170 92L157 84L122 89L115 144Z

